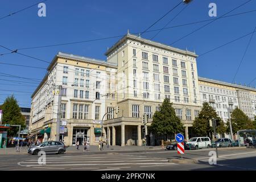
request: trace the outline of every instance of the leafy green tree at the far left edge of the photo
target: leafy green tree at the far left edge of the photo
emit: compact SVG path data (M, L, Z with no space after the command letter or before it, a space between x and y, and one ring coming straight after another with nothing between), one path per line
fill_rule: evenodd
M1 109L3 110L3 124L21 125L21 129L26 127L26 119L20 113L19 105L13 95L6 98ZM8 130L8 135L15 136L18 133L18 130L18 127L13 127Z

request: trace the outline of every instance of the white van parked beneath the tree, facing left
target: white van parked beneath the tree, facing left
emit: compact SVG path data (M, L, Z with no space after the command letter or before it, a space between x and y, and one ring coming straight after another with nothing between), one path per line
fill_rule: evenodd
M209 137L194 137L188 140L186 143L187 149L195 148L196 150L199 148L210 148L210 138Z

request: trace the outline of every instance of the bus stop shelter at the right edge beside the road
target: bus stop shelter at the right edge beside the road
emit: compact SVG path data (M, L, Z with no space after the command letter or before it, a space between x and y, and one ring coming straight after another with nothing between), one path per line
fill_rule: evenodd
M256 147L256 130L239 130L237 131L239 146Z

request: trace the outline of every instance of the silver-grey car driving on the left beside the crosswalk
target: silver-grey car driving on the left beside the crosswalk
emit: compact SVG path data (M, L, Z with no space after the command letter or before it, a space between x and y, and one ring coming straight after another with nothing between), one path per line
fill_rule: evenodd
M62 142L57 141L50 141L50 142L43 142L38 144L37 146L32 146L28 148L28 154L38 155L38 152L44 151L47 154L55 153L55 154L64 154L66 151L66 146Z

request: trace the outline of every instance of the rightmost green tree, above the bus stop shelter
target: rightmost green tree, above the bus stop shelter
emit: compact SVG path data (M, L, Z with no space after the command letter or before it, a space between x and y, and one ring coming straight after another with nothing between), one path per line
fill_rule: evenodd
M231 123L233 133L237 133L238 130L252 130L254 129L254 122L241 109L234 109L231 114ZM229 126L229 122L227 123ZM230 132L230 127L228 127Z

